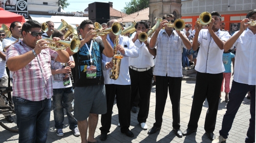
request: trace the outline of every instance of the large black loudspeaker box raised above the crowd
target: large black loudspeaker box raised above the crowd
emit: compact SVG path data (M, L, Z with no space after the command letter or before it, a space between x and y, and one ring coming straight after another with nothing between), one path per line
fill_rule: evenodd
M110 3L91 3L89 4L89 19L110 19Z

